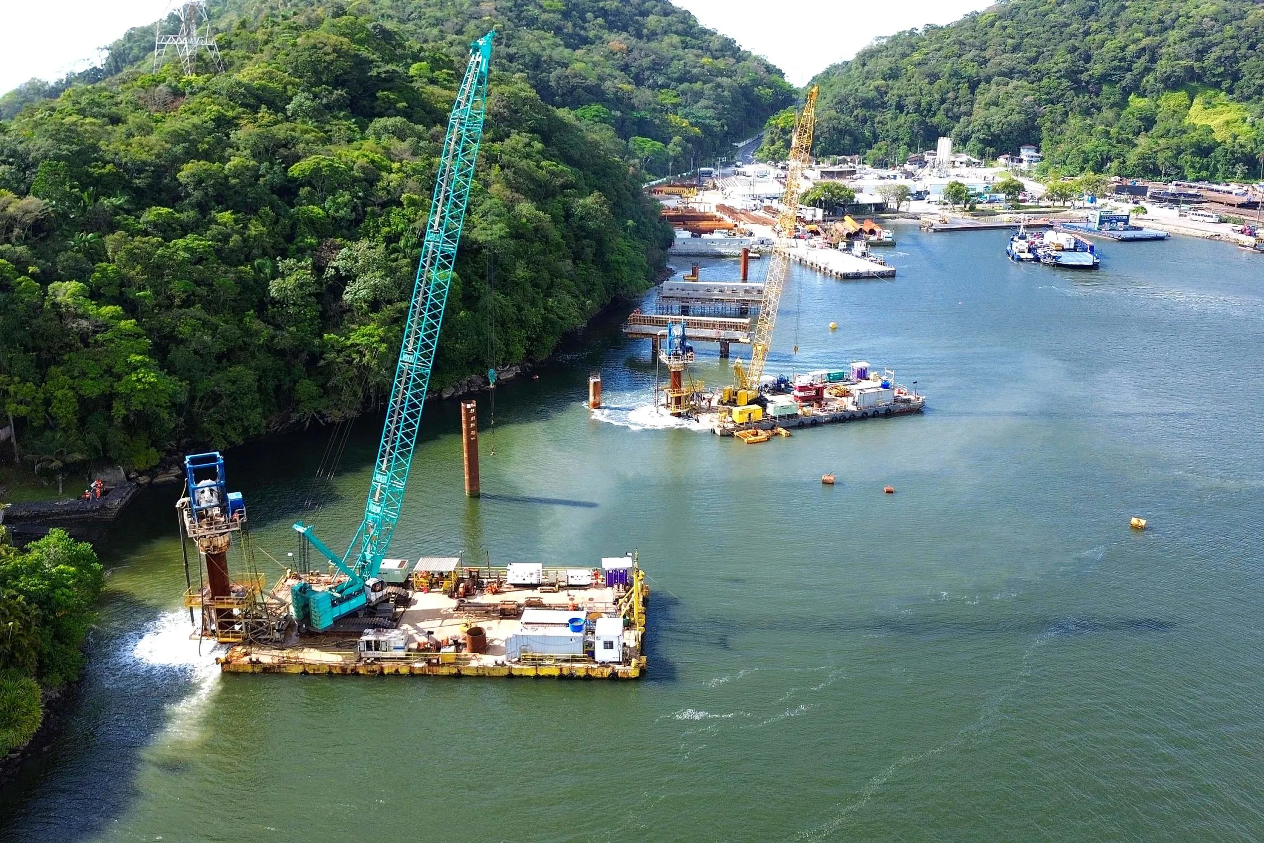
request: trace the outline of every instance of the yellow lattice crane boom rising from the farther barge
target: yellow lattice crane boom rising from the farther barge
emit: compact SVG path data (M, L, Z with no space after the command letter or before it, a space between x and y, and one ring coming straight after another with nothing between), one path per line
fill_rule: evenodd
M755 340L751 343L751 363L744 369L742 361L733 364L737 385L741 389L758 389L763 363L772 346L772 329L777 325L777 306L781 303L781 289L790 274L790 252L782 240L794 238L799 220L799 197L803 195L803 171L808 168L811 157L811 134L817 128L817 86L808 91L803 112L795 121L794 142L790 147L790 163L786 167L786 188L781 195L781 215L777 217L774 236L777 244L772 248L769 274L763 278L763 298L760 301L760 317L755 324Z

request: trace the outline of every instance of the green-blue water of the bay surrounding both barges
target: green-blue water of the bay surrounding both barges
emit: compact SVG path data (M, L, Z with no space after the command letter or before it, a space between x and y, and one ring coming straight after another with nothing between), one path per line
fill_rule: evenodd
M150 489L0 839L1264 838L1264 258L1107 243L1074 274L1009 263L1004 233L897 236L895 281L795 268L770 370L885 364L924 415L656 428L647 343L594 331L498 391L494 456L480 397L466 500L455 402L427 407L393 552L638 550L646 679L221 676L178 608L176 489ZM335 546L379 423L320 495ZM295 550L327 436L228 454L260 551Z

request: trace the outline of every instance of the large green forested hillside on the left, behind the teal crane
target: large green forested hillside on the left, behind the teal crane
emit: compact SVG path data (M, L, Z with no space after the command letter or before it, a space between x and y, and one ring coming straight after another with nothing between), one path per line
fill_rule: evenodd
M150 72L142 28L112 76L5 100L0 397L34 459L145 468L379 399L474 35L502 32L435 388L541 359L645 289L671 233L642 168L793 99L659 0L212 11L228 72Z

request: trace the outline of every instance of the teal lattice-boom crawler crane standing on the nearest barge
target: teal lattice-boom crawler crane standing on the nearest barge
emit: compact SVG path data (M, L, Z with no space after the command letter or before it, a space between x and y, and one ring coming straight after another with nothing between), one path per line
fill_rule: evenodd
M329 629L339 618L375 603L384 595L378 574L391 545L391 536L399 522L408 468L421 427L421 409L435 363L439 329L444 321L447 288L453 279L456 246L465 225L465 206L483 138L487 75L494 37L495 32L489 32L470 44L469 64L447 121L447 136L444 140L430 220L426 222L426 239L421 246L412 306L399 346L399 363L382 428L382 442L373 465L364 519L343 555L335 554L317 538L310 525L301 521L295 525L295 530L344 575L344 579L329 588L313 588L306 581L292 588L295 618L310 629Z

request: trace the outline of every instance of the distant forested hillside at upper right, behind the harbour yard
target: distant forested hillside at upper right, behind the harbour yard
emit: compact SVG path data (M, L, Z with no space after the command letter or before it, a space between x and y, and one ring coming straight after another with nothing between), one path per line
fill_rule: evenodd
M952 135L1067 173L1246 178L1264 152L1264 6L1009 0L824 71L817 152L902 161Z

